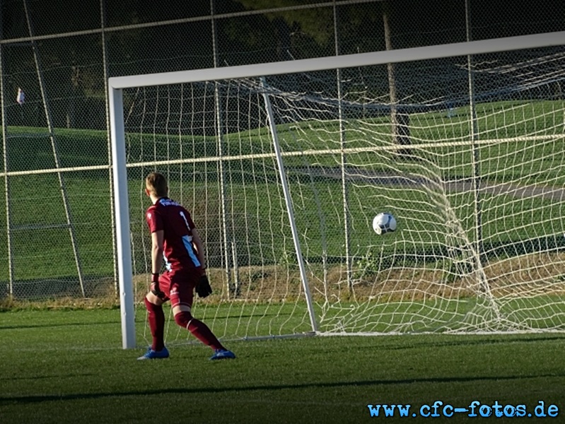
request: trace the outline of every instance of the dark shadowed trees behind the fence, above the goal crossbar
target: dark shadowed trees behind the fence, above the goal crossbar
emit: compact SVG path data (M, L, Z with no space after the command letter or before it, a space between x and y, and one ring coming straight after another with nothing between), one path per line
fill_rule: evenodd
M565 2L468 0L474 40L564 30ZM109 76L257 64L385 49L383 1L335 8L310 0L28 1L48 98L58 125L105 127L103 47ZM466 39L465 0L387 0L395 49ZM214 6L214 21L209 16ZM293 10L293 8L295 8ZM279 10L277 10L279 9ZM246 11L257 12L248 13ZM261 13L261 11L265 11ZM337 21L334 23L334 11ZM5 86L30 101L37 93L30 49L6 40L29 37L23 0L1 2ZM185 20L185 21L182 21ZM161 25L152 25L159 21ZM214 25L213 25L214 23ZM134 25L127 28L126 25ZM82 32L82 33L81 33ZM90 32L90 33L88 33ZM71 34L69 34L71 33ZM60 35L53 36L51 35ZM336 39L337 35L337 39ZM337 46L339 48L337 49ZM96 110L97 112L93 112ZM28 114L35 119L38 114ZM96 116L96 117L95 117ZM34 122L27 122L34 124Z

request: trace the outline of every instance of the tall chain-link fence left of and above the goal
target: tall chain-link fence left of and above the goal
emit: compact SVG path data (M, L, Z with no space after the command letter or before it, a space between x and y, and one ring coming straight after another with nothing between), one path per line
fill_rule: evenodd
M556 0L520 7L486 0L210 0L192 1L190 8L181 0L3 1L0 261L5 266L0 281L5 283L0 296L92 298L115 293L107 117L111 76L560 30L565 30L565 4ZM399 73L404 71L418 72L404 67ZM438 69L430 89L446 95L441 78ZM356 81L353 91L359 95L374 88L362 78L351 81ZM144 95L133 93L131 98ZM392 93L387 101L396 101ZM159 98L152 98L151 105L158 104ZM138 119L144 131L167 131L166 123L134 117L138 107L138 102L125 105L131 122ZM214 125L203 127L217 131Z

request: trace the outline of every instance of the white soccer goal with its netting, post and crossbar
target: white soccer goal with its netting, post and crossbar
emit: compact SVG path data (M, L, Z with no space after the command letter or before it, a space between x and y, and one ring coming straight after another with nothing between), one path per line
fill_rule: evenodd
M148 337L158 170L204 239L193 314L220 338L563 331L559 40L110 78L123 328Z

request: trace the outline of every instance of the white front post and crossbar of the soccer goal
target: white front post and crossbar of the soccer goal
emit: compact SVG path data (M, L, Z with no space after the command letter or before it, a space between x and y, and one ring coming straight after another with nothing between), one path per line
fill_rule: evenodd
M505 37L494 40L460 42L410 49L388 50L361 54L349 54L316 59L280 61L267 64L230 66L213 69L196 69L166 73L151 73L135 76L118 76L108 79L110 100L110 131L112 140L112 178L114 182L114 206L117 240L117 269L120 286L120 312L122 322L122 347L135 348L135 309L132 283L132 251L130 247L129 202L127 191L127 163L124 133L124 107L122 90L147 86L216 81L231 78L262 77L284 73L301 73L327 69L344 69L444 57L461 57L473 54L504 52L518 49L533 49L564 45L565 31ZM167 164L164 161L163 164ZM151 163L151 165L156 165ZM299 253L299 252L297 252ZM300 256L300 255L298 255ZM299 259L300 260L300 259ZM308 296L308 285L305 293ZM310 311L310 313L312 313ZM315 320L311 319L313 331Z

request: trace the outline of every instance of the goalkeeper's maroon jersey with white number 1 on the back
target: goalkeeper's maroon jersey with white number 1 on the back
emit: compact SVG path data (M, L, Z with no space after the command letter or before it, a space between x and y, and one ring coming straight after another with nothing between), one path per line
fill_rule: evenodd
M194 223L190 213L168 197L161 197L145 214L149 230L163 230L163 259L168 271L194 269L200 266L192 246Z

